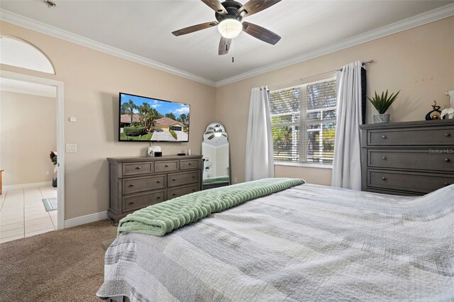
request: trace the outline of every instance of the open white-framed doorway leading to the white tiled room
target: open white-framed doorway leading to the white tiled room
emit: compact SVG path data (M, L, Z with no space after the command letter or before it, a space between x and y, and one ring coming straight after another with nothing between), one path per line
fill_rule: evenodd
M16 91L14 91L14 89L9 89L10 91L6 93L6 91L2 89L1 93L8 97L2 100L4 108L0 105L0 113L2 111L6 113L6 110L17 111L17 108L21 106L21 102L23 101L40 102L38 106L37 104L33 104L33 106L35 106L35 115L33 116L32 113L33 119L36 123L36 119L38 118L39 120L41 118L42 124L48 125L48 128L43 128L41 126L35 127L44 132L35 133L35 135L43 138L43 143L41 143L40 140L30 140L29 145L23 145L23 142L21 142L21 139L19 138L16 139L16 143L21 144L21 149L26 149L25 153L17 152L17 156L14 157L11 156L11 150L6 150L8 152L0 152L1 155L3 155L0 157L0 166L9 168L9 171L3 172L4 186L2 194L0 195L1 243L18 239L21 237L21 234L23 234L23 237L29 237L38 233L65 228L65 143L62 82L33 77L26 74L18 74L15 72L6 72L4 70L1 70L0 81L2 82L2 87L6 86L4 84L10 84L10 86L16 85L16 88L28 87L34 91L34 94L42 94L41 96L33 96L27 93L24 94L25 91L21 91L21 89L16 89ZM52 96L49 94L52 94ZM16 98L17 104L14 104L12 100L8 101L12 96ZM29 104L33 107L32 103ZM23 105L22 108L24 108ZM29 111L33 111L33 108L28 109ZM45 112L48 112L48 114ZM30 112L28 114L30 114ZM25 116L25 112L23 115ZM5 115L3 116L5 117ZM10 125L9 127L6 127L9 129L7 138L21 135L21 133L27 131L20 127L18 127L18 130L19 128L21 129L20 131L14 131L14 127L11 128L11 123L14 121L14 118L18 118L20 122L21 118L24 118L24 116L21 117L17 112L11 112L11 117L6 118L8 121L1 121L2 123L9 123ZM13 118L13 120L11 120L11 118ZM30 122L31 123L28 123L28 127L33 128L33 123L32 121ZM52 125L52 128L49 128L49 125ZM30 130L32 131L33 129ZM4 129L2 128L1 131L5 138ZM50 135L52 135L51 140L44 139L49 138ZM25 137L26 135L24 135L24 138ZM27 144L27 142L25 143ZM2 140L0 142L0 150L4 147L4 144L5 140ZM38 145L40 145L40 147L38 147ZM43 151L43 145L45 145L44 149L47 147L49 150ZM4 147L4 150L5 149L8 149L8 147ZM12 148L10 147L9 149ZM57 157L55 159L55 166L51 161L51 151L56 151ZM39 157L36 157L34 154L35 152L40 153ZM14 155L14 152L12 154ZM5 155L8 155L8 158L6 158ZM41 158L43 156L45 157L45 162L43 162L43 159ZM24 165L21 163L26 162L25 159L30 161L31 157L36 157L37 159L33 160L34 164L28 163L30 169L25 168L25 172L23 172ZM5 168L0 167L0 169ZM33 172L36 172L36 170L38 170L40 175L33 176ZM33 179L36 181L33 181ZM54 186L52 186L52 182ZM21 208L23 208L22 214L20 213ZM12 213L17 213L17 215ZM20 217L23 217L22 222L18 219ZM23 225L23 232L20 231L21 225Z

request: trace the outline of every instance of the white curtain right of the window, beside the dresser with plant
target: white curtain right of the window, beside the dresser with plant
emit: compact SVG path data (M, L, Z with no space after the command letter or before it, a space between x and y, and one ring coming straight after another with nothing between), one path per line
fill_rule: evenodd
M334 140L331 186L361 190L361 110L362 62L345 65L337 73L338 117Z

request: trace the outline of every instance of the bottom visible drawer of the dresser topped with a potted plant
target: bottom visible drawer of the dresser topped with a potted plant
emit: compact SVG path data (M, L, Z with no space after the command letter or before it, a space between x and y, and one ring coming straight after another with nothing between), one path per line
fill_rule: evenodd
M367 170L367 186L428 193L454 184L453 174Z

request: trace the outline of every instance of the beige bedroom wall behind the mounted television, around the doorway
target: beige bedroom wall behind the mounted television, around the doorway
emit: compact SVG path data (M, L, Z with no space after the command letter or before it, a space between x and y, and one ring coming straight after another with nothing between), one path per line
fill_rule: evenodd
M75 45L33 30L1 22L1 33L39 47L52 60L56 75L1 65L1 69L64 82L65 140L77 143L66 153L65 219L109 208L106 157L145 155L146 142L118 142L118 92L151 96L191 105L189 142L159 143L164 155L200 154L206 125L215 120L216 89ZM76 117L77 123L68 118Z

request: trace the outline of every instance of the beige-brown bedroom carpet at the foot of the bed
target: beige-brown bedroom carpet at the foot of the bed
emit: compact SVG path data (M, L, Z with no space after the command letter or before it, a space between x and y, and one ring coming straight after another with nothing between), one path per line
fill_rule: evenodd
M107 220L0 244L0 301L101 301Z

